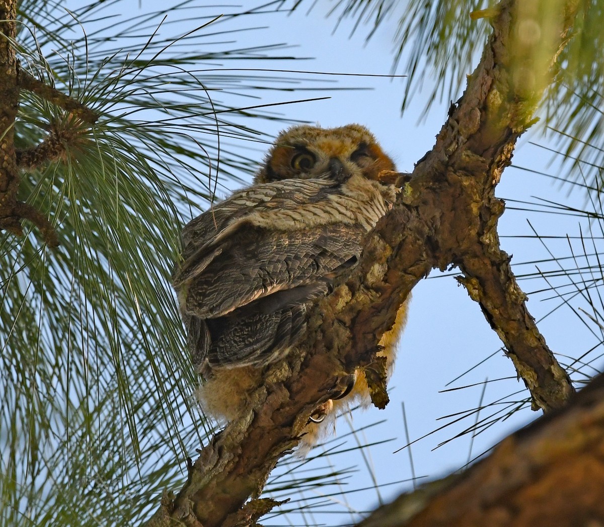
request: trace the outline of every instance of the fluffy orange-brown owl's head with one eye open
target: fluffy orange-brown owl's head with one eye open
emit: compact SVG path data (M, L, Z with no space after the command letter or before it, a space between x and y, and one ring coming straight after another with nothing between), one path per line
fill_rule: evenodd
M394 163L364 126L294 126L279 134L254 183L291 178L345 181L353 174L379 180L382 170L395 170Z

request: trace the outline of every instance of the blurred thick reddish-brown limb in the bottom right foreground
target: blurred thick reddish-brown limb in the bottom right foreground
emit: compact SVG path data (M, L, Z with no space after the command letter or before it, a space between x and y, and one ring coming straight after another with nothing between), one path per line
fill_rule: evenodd
M601 526L604 375L463 474L374 511L358 527Z

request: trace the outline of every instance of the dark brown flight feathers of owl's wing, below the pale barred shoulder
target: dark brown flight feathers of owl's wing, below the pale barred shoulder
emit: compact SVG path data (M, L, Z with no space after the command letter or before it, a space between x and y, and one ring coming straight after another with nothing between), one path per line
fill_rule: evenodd
M356 264L364 229L333 225L273 232L242 229L191 282L184 320L193 365L272 362L306 327L306 304Z

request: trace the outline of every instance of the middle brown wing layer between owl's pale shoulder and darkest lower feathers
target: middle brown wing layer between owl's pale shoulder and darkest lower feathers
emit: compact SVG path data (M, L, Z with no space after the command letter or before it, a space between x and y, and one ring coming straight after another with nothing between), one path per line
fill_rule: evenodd
M358 225L297 231L239 225L220 243L192 255L189 268L195 272L188 279L184 310L216 318L266 296L274 297L275 310L289 302L288 290L318 280L329 282L349 266L361 254L364 234ZM281 295L274 296L277 293ZM269 306L264 304L265 310Z

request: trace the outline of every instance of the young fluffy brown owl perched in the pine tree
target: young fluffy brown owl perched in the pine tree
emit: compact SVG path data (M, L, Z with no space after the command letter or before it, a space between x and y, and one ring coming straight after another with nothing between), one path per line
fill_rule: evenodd
M355 266L393 205L395 176L363 126L294 126L277 137L250 187L184 227L173 287L207 414L237 418L266 365L295 352L307 309ZM405 317L403 304L380 342L388 371ZM359 399L369 401L360 370L313 412L306 446L329 429L340 406Z

